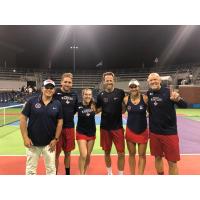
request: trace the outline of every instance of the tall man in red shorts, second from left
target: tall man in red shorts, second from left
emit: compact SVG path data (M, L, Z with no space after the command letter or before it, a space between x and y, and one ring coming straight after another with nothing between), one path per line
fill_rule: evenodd
M70 154L75 148L74 114L78 103L78 97L71 91L73 75L64 73L61 77L61 88L56 90L55 98L59 100L63 108L63 129L56 146L56 169L58 173L59 156L64 151L64 165L66 175L70 175Z

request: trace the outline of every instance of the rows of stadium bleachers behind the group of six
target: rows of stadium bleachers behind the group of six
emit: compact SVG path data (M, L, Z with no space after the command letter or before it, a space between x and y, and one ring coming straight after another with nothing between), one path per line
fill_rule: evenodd
M151 72L158 72L161 76L171 76L173 79L173 84L177 84L177 79L182 76L188 76L188 72L193 74L193 84L200 84L200 64L183 64L183 65L171 65L171 66L157 66L153 68L123 68L123 69L87 69L87 70L77 70L76 73L73 73L73 90L78 93L78 96L81 97L81 90L83 88L93 89L94 96L97 95L99 89L101 89L101 80L102 74L106 71L113 71L117 77L117 82L124 82L127 86L128 81L132 78L136 78L140 81L142 89L147 88L147 77ZM0 79L1 80L23 80L26 81L29 79L34 79L37 83L37 87L40 88L42 81L51 78L55 81L56 86L60 86L60 78L66 70L44 70L44 69L1 69L0 70ZM33 80L33 81L34 81ZM23 95L18 92L0 92L0 103L15 102L16 99L18 102L25 101L28 96Z

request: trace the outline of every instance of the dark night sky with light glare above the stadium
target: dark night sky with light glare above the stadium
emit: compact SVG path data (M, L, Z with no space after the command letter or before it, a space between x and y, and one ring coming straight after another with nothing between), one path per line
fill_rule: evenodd
M22 48L17 67L72 67L70 46L76 51L76 67L152 66L160 63L200 62L200 26L190 34L184 26L0 26L0 41ZM189 26L192 29L192 26ZM181 38L180 38L181 37ZM166 58L166 54L169 57ZM164 55L164 56L162 56Z

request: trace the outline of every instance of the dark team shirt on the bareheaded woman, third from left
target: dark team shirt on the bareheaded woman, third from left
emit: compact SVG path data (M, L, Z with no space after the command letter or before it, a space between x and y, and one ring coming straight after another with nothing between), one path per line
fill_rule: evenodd
M78 103L78 122L76 130L89 137L95 136L96 124L95 124L95 112L91 109L90 105L83 105Z

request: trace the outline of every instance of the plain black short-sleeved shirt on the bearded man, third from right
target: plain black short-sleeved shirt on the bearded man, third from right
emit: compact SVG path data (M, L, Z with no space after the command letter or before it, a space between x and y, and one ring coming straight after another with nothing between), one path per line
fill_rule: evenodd
M122 128L122 102L125 93L114 88L112 92L102 91L97 96L97 108L102 108L101 125L105 130Z

